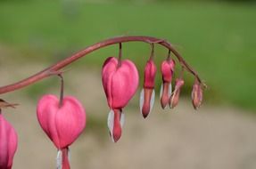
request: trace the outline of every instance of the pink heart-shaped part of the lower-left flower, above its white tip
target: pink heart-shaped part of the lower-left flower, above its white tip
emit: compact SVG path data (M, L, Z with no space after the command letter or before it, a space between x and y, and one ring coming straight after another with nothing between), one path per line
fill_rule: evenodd
M85 128L86 111L72 96L64 97L60 107L59 99L48 94L37 104L37 119L56 148L64 149L70 146Z

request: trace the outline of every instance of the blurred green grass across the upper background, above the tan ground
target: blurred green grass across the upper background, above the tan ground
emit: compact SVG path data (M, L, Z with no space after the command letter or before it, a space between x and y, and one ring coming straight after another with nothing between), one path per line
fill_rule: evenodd
M206 101L226 101L256 110L255 7L255 4L211 2L4 1L0 3L0 44L21 53L25 51L24 60L37 61L44 56L44 61L50 64L112 36L162 37L177 46L206 80L210 86ZM123 48L124 57L136 62L142 76L149 45L129 43L123 44ZM101 67L104 58L117 53L117 46L111 46L75 65ZM158 65L166 53L161 47L157 48ZM158 79L159 86L161 77ZM193 78L186 75L186 81L184 91L190 93Z

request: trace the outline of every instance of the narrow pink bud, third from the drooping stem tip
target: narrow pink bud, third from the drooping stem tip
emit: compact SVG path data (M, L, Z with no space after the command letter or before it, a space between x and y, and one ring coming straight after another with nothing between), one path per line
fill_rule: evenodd
M162 84L160 90L161 108L165 109L171 96L171 80L174 72L175 61L164 60L161 63Z

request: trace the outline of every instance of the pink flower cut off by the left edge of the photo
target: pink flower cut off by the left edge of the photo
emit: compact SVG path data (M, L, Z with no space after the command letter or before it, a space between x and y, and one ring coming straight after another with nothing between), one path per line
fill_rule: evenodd
M18 137L14 128L0 112L0 168L12 169L12 160L17 149Z

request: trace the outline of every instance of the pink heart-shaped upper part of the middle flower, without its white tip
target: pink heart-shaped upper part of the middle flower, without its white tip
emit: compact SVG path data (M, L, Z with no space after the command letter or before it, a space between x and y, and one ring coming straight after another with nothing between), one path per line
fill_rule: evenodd
M105 60L102 70L103 88L111 109L124 108L136 93L138 72L130 60L118 60L110 57Z

